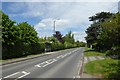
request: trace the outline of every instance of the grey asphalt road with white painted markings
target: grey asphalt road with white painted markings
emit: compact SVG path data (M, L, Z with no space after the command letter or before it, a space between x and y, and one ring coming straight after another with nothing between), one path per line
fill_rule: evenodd
M2 66L2 80L14 78L76 78L84 48L67 49Z

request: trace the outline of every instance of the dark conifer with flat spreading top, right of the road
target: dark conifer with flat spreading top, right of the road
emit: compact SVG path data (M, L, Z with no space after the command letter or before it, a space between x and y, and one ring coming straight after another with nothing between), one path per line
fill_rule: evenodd
M101 23L109 19L111 16L113 16L113 14L110 12L101 12L89 17L89 21L93 21L93 24L91 24L91 26L87 28L86 31L86 41L89 47L92 45L92 47L97 50L101 49L101 45L98 44L98 36L101 34L102 31Z

